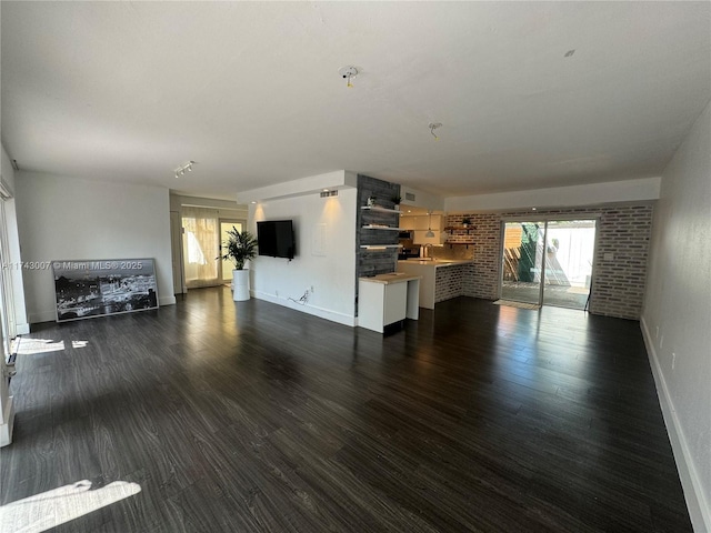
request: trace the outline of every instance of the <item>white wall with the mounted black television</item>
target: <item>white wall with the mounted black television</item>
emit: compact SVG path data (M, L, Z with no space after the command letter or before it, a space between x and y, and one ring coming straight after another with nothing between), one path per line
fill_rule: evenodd
M291 219L297 237L297 257L291 262L266 257L252 262L254 298L356 325L357 194L356 189L342 189L338 197L320 198L314 192L250 205L250 231L256 233L258 220ZM308 304L289 300L298 301L311 286Z

